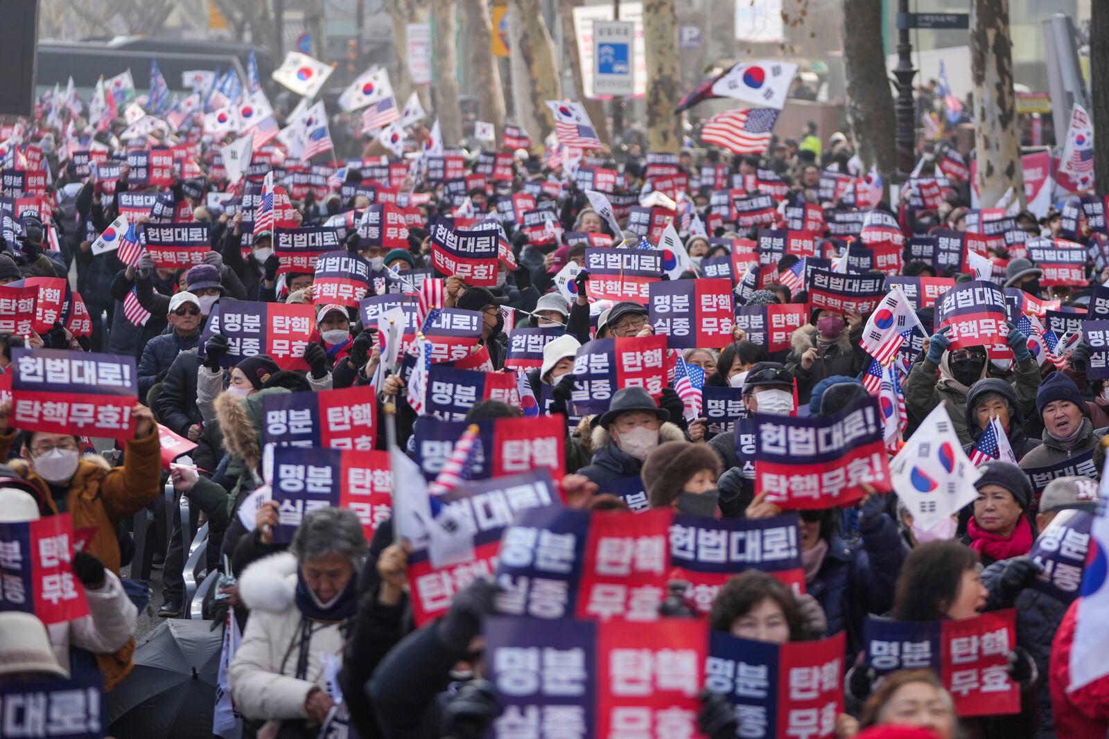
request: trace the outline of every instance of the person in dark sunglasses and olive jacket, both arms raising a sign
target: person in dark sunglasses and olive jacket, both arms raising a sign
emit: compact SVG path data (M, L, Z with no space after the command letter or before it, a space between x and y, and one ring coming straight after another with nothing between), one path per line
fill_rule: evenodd
M1017 408L1028 414L1036 408L1036 390L1040 384L1039 365L1028 351L1028 337L1008 325L1006 337L1015 361L1013 388ZM959 434L963 445L974 442L974 433L967 428L967 392L978 380L986 378L987 357L985 347L963 347L948 351L950 327L944 326L925 343L925 356L913 366L905 379L905 404L917 419L927 418L936 406L947 401L947 414Z

